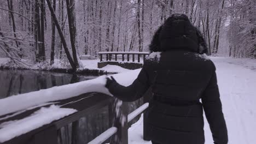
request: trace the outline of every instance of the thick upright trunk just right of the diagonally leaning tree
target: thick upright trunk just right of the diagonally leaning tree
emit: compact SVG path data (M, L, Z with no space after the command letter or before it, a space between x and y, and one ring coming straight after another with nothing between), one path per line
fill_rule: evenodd
M68 25L69 25L73 60L74 60L75 67L78 68L79 63L77 59L77 47L75 46L76 45L75 37L77 36L77 28L76 28L76 20L75 20L75 1L66 0L66 3L67 3Z

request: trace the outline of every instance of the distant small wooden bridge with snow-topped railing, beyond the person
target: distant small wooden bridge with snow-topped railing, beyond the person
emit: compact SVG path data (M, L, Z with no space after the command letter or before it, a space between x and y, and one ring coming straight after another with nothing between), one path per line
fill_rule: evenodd
M98 55L100 55L98 68L103 68L110 64L118 65L125 69L139 69L142 68L142 62L149 54L149 52L98 52Z

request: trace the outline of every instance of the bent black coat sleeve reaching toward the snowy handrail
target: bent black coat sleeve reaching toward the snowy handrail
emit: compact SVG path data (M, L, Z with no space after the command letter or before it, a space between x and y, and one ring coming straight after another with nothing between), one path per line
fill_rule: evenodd
M130 86L122 86L118 82L112 82L108 88L109 92L123 101L135 101L143 97L149 88L148 74L142 68L137 79Z

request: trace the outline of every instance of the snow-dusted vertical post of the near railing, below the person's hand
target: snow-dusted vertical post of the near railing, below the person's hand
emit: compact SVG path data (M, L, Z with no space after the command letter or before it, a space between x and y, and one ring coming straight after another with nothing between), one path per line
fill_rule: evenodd
M110 144L128 144L128 103L115 99L112 113L114 113L113 126L118 129L112 136Z

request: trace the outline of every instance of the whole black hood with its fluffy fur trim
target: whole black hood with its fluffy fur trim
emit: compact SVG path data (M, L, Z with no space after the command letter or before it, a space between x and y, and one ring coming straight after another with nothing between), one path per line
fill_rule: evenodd
M155 32L149 45L151 52L185 49L207 53L207 45L199 29L184 14L172 14Z

